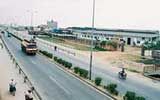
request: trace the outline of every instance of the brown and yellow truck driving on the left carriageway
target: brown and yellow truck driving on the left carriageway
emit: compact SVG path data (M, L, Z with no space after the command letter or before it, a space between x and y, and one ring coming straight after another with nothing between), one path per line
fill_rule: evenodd
M36 42L31 39L31 40L27 40L27 39L24 39L22 40L21 42L21 49L23 52L25 52L26 54L32 54L32 55L36 55L37 53L37 44Z

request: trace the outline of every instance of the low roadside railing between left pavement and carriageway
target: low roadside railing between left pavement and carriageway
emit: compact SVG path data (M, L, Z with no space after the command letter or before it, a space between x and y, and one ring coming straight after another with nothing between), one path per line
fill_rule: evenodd
M12 60L13 64L15 64L15 67L18 68L19 74L23 76L24 78L24 83L28 83L31 87L31 90L35 96L35 98L37 100L42 100L42 97L40 96L40 94L37 92L37 90L34 88L32 82L30 81L30 79L28 78L27 74L23 71L22 69L22 65L20 65L20 63L18 63L18 60L15 58L15 56L13 55L13 53L11 53L11 51L9 50L8 46L6 45L3 36L1 37L1 40L4 44L5 49L7 50L10 59Z

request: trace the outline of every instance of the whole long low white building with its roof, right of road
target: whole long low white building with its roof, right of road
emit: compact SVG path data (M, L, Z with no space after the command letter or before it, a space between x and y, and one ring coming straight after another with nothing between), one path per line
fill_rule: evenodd
M91 28L69 27L69 30L77 36L78 39L92 39ZM125 41L128 45L140 46L144 41L153 41L159 39L159 31L156 30L129 30L129 29L98 29L93 32L93 40L108 41L118 39Z

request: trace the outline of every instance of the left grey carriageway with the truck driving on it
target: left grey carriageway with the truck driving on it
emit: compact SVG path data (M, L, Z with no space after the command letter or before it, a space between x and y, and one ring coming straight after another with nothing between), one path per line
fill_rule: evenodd
M43 100L111 100L72 75L60 70L41 55L27 56L14 37L4 37L9 49L38 89Z

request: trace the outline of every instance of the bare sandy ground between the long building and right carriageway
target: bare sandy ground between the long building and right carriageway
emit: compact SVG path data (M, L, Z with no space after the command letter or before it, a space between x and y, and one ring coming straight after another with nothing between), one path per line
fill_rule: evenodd
M110 64L113 67L124 67L132 72L143 72L144 64L137 62L141 59L140 48L126 47L125 52L106 51L94 52L95 60L103 64ZM87 55L87 54L86 54Z

